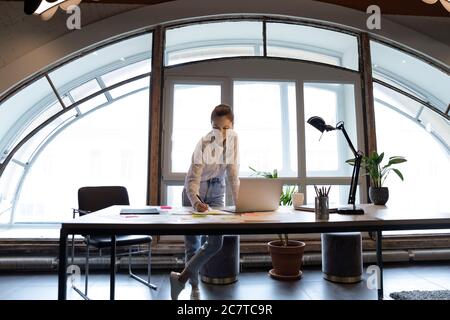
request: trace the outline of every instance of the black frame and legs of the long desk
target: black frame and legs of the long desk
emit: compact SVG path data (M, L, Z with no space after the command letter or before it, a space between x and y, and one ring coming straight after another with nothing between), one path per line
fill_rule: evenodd
M114 300L115 295L115 261L116 261L116 236L118 235L132 235L132 234L148 234L148 235L195 235L204 234L277 234L277 233L326 233L326 232L375 232L376 233L376 256L377 265L380 269L379 283L380 286L377 290L378 300L384 298L383 291L383 248L382 248L382 232L393 230L419 230L419 229L450 229L450 223L442 224L420 224L420 223L397 223L392 222L386 225L380 225L382 221L364 221L360 222L361 226L349 226L336 225L329 226L315 226L308 225L302 226L304 223L263 223L263 224L207 224L207 230L205 225L186 224L183 225L185 229L180 230L180 225L176 224L143 224L144 227L136 228L135 225L131 225L131 228L127 226L84 226L82 224L77 225L75 223L63 224L60 231L59 242L59 267L58 267L58 299L65 300L67 294L67 238L70 234L89 234L89 235L102 235L111 236L111 264L110 264L110 299ZM332 223L330 223L332 224Z

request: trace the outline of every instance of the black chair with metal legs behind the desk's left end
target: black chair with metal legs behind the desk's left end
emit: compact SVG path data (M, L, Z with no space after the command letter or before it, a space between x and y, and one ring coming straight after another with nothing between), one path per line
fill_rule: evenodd
M102 186L102 187L83 187L78 190L78 209L73 209L73 218L78 213L80 216L89 214L91 212L101 210L113 205L129 205L128 192L125 187L120 186ZM77 287L73 289L84 299L89 300L88 297L88 282L89 282L89 247L95 247L98 250L111 247L111 238L108 236L89 236L83 235L83 240L86 243L86 262L85 262L85 284L84 292ZM156 286L150 282L151 278L151 243L152 237L147 235L125 235L116 237L117 247L128 246L128 273L130 277L146 285L147 287L156 290ZM72 235L72 264L75 254L75 236ZM144 280L135 275L131 269L132 254L146 252L147 250L137 250L133 252L132 248L136 245L148 244L148 279ZM123 254L119 254L123 255ZM118 256L119 256L118 255Z

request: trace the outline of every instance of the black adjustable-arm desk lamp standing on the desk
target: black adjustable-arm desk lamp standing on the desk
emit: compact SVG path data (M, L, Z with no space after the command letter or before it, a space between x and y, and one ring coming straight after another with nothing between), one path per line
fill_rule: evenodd
M312 125L314 128L319 130L320 132L324 131L333 131L333 130L340 130L344 134L345 139L347 140L348 145L350 146L350 149L352 149L352 152L355 156L355 166L353 167L353 173L352 173L352 181L350 184L350 192L348 195L348 204L351 204L352 207L350 208L339 208L338 213L340 214L364 214L363 209L356 208L355 206L355 196L356 196L356 188L358 187L358 177L359 177L359 169L361 168L361 159L362 159L362 153L360 151L356 151L355 147L353 146L353 143L351 142L347 131L345 131L344 128L344 122L338 122L336 127L330 126L325 123L325 120L323 120L321 117L311 117L307 121L310 125Z

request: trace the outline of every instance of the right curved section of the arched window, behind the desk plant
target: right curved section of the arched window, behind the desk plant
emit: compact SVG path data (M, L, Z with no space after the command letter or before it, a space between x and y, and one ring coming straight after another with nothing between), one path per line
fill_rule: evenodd
M448 210L450 76L379 42L371 41L371 53L378 151L408 160L398 166L405 181L394 174L386 180L389 202Z

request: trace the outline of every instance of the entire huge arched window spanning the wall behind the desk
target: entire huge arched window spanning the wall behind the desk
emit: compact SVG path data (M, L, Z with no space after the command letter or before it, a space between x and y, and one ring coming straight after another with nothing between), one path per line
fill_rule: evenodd
M344 121L364 150L358 33L280 17L216 18L163 31L162 202L181 203L193 146L221 102L236 113L242 175L249 166L277 169L308 202L314 184L333 185L332 202L346 202L346 141L337 132L320 137L306 120ZM68 57L1 101L0 223L70 218L77 188L89 184L125 185L133 204L145 204L151 49L146 31L117 38ZM405 182L387 181L390 201L430 201L449 178L448 70L379 41L371 41L371 54L378 150L408 158Z

